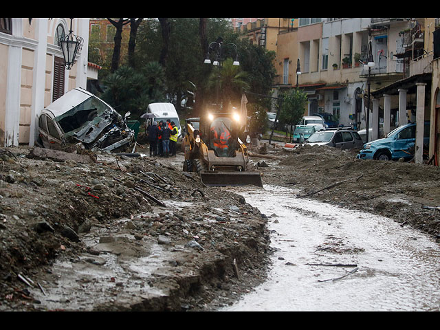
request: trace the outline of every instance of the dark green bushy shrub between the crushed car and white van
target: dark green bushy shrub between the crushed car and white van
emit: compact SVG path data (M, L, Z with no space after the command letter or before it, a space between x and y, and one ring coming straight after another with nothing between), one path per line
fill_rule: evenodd
M130 111L137 118L152 102L164 102L164 73L155 62L148 63L142 72L132 67L119 67L104 79L102 100L111 104L121 114Z

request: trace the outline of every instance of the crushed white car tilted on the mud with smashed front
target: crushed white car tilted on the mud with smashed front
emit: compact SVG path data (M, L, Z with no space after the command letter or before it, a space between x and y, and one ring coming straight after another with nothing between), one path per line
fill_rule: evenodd
M37 142L50 149L83 144L86 149L115 151L134 142L135 132L109 104L82 88L58 98L39 115Z

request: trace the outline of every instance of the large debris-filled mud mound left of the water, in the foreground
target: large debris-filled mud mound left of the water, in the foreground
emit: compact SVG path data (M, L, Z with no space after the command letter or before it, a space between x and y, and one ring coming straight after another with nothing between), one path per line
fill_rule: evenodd
M0 310L203 309L263 281L267 217L181 154L32 151L0 153Z

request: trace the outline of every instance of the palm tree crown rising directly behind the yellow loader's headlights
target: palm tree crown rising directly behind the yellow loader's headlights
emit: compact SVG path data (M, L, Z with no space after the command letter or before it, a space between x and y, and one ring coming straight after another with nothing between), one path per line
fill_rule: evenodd
M239 104L243 91L250 88L248 73L232 63L232 58L226 58L222 67L214 68L208 80L208 87L217 89L217 102L221 101L223 109L230 103Z

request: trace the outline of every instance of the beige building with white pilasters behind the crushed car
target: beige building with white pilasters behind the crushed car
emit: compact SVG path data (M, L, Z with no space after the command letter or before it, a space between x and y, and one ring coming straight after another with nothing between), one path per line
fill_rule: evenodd
M0 145L34 145L38 115L75 87L87 88L96 71L87 61L89 19L73 19L72 30L84 39L72 69L64 66L58 38L68 34L70 19L0 19Z

